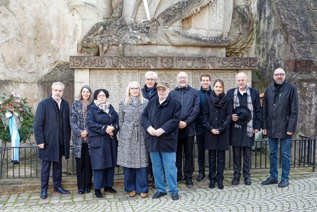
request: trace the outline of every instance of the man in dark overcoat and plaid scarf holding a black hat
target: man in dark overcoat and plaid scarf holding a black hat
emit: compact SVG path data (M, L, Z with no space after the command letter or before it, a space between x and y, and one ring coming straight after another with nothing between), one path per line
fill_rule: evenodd
M238 185L241 176L241 151L243 152L243 177L244 184L251 185L250 169L252 146L255 134L261 130L262 110L259 92L247 86L247 74L240 72L236 75L238 87L228 90L227 96L233 102L233 109L238 106L248 107L251 111L251 120L246 125L238 125L239 116L232 114L230 124L230 145L233 151L233 179L232 185Z

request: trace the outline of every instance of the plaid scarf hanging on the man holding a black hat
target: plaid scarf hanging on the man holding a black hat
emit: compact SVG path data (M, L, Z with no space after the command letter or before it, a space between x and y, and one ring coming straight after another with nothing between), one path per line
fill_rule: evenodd
M233 109L240 106L239 97L238 97L238 90L239 90L239 88L236 88L236 89L234 89L234 92L233 92L233 100L234 100L233 101ZM252 137L253 136L253 105L252 105L251 94L250 94L250 89L249 89L248 85L247 85L246 91L247 91L248 108L251 111L251 120L250 120L250 122L248 122L248 125L247 125L247 136ZM234 127L241 129L241 125L234 124Z

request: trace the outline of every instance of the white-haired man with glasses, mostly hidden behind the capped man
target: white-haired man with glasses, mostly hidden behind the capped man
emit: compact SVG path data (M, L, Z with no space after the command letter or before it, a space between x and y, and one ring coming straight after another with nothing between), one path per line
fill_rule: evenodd
M158 74L154 71L148 71L145 73L145 85L141 89L144 98L149 101L156 96L157 93L157 79Z

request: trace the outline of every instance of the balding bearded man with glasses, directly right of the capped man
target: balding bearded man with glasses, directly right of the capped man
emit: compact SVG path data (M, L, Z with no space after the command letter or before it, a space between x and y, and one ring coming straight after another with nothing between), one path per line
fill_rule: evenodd
M171 98L178 100L181 105L181 118L178 125L178 139L176 152L177 183L183 181L182 158L184 162L184 178L187 187L194 186L192 181L194 172L193 143L195 137L195 120L199 114L199 94L198 90L187 84L188 75L181 71L177 75L178 85L170 92Z

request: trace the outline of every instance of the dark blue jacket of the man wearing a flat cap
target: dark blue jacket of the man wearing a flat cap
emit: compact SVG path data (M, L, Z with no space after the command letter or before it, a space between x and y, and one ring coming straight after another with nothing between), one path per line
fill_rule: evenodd
M159 97L152 99L142 114L142 126L145 130L148 151L176 152L180 103L170 95L159 104ZM161 136L151 136L147 129L163 129Z

